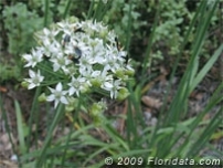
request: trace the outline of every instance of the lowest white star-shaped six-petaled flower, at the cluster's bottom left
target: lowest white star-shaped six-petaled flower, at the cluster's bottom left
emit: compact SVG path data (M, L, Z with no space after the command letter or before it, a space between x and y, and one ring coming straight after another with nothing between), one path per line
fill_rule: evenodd
M49 90L51 91L52 94L46 97L46 101L49 102L54 101L54 108L56 108L60 102L63 104L68 104L68 101L65 97L65 95L67 94L67 91L63 91L61 83L56 85L55 90L51 87L49 87Z

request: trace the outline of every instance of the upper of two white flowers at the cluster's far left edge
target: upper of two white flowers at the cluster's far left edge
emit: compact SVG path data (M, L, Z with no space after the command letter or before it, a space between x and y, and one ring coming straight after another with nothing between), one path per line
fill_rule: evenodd
M23 59L28 62L24 67L29 67L32 66L34 67L36 65L36 63L41 62L43 59L43 53L41 50L32 50L31 54L24 54Z

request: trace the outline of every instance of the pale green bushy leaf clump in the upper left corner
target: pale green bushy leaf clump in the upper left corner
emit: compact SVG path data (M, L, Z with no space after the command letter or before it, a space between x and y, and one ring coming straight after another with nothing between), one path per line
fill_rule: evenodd
M34 11L29 11L24 3L19 2L4 8L3 19L10 53L21 54L35 44L33 33L41 28L41 19Z

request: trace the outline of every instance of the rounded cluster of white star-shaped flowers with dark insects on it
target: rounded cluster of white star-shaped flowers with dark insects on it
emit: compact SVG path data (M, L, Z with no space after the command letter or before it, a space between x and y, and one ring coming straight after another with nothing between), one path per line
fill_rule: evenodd
M126 81L134 74L116 34L102 22L66 20L36 33L40 44L23 55L29 67L28 88L47 86L46 101L68 104L83 93L112 98L127 95Z

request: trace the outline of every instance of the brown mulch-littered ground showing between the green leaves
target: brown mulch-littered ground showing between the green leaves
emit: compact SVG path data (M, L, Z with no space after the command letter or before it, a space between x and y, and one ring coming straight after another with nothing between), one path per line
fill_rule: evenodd
M151 126L155 125L157 122L157 117L159 115L159 111L163 103L163 94L167 92L167 86L169 84L168 75L169 72L166 70L166 65L160 65L159 67L159 75L153 78L150 83L147 84L145 87L145 95L141 97L141 104L145 113L145 120L147 125ZM198 115L203 107L209 102L210 96L215 91L216 86L220 84L219 75L217 75L219 65L211 70L211 72L205 76L202 83L199 84L195 91L189 97L189 115L188 117L192 117ZM171 103L173 95L177 92L178 84L180 81L180 76L176 76L173 82L171 83L171 92L168 96L168 102ZM15 87L17 86L17 87ZM0 92L3 97L3 111L6 117L8 119L9 128L11 130L11 140L14 143L14 148L18 148L18 134L17 134L17 118L15 118L15 111L14 111L14 99L19 101L22 109L22 115L24 122L29 119L29 112L32 104L33 92L26 91L22 88L18 84L13 83L6 83L4 85L0 86ZM221 104L220 104L221 105ZM203 119L208 119L212 117L212 115L220 108L220 105L212 109ZM107 115L113 115L113 117L117 117L117 114L126 115L126 104L116 104L110 103ZM44 111L44 109L43 109ZM17 167L17 164L13 161L14 153L13 147L10 143L6 122L3 119L3 112L0 109L0 168L3 167ZM116 116L117 115L117 116ZM44 120L44 118L43 118ZM86 119L87 120L87 119ZM68 123L68 119L67 119ZM114 126L119 130L120 134L125 134L125 120L117 117L115 119ZM45 135L45 128L41 127L41 134ZM222 132L220 128L216 132ZM65 133L61 133L57 136L63 136ZM95 136L102 138L103 140L106 139L105 136L102 136L99 132L92 133ZM223 151L223 137L219 137L214 141L216 148ZM204 149L204 154L206 155L215 155L209 149Z

